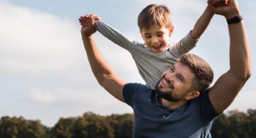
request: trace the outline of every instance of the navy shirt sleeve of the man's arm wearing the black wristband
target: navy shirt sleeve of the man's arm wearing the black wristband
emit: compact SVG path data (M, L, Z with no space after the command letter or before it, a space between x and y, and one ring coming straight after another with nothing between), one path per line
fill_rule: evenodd
M211 104L210 98L209 98L209 91L210 88L205 89L205 91L201 92L201 96L199 97L199 106L200 106L200 112L207 120L214 119L218 113L216 113L213 104Z

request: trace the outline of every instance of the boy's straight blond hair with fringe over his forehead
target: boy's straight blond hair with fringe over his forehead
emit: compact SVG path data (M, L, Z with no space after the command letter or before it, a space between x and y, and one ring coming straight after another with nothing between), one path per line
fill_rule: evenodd
M140 29L149 29L155 25L170 28L172 26L171 14L166 5L148 5L139 14L138 26Z

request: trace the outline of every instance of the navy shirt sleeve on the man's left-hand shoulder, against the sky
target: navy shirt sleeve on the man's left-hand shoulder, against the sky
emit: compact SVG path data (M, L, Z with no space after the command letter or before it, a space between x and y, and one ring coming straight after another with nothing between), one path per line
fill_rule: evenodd
M125 103L132 106L139 83L127 83L123 87L123 99Z

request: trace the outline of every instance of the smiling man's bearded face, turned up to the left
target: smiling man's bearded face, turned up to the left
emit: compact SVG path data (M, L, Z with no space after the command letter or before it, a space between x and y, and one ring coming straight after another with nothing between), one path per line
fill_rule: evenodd
M183 100L192 92L192 81L195 75L189 67L177 62L169 70L164 71L155 91L161 98L169 101Z

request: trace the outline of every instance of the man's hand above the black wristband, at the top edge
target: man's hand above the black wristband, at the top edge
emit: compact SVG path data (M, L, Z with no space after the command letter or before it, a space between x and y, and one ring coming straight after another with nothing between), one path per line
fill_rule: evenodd
M234 16L240 16L239 5L236 0L229 0L228 4L225 6L216 7L213 4L216 4L216 1L219 0L208 0L207 3L213 10L215 14L225 16L226 19L231 19Z

